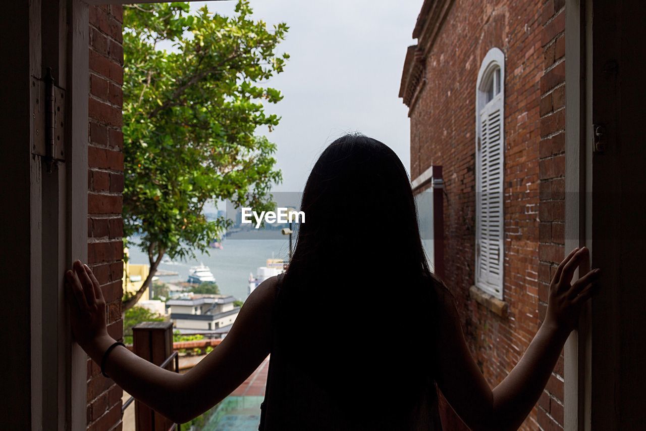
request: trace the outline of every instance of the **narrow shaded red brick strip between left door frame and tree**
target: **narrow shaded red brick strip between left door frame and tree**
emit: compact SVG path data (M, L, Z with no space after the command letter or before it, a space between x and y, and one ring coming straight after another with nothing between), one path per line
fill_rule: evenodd
M121 6L90 6L90 94L88 172L88 260L108 303L108 331L123 335L123 22ZM121 429L123 391L87 362L87 428Z

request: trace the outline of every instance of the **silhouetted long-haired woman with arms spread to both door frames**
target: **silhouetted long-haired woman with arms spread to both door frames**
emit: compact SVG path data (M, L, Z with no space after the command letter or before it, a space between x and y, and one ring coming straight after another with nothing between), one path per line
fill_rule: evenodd
M437 430L437 389L474 430L516 429L543 391L598 271L575 249L552 283L545 321L491 390L452 295L428 267L410 181L397 155L360 135L322 153L304 190L293 260L247 298L229 335L189 372L162 370L106 330L87 265L67 273L79 344L125 391L175 422L233 392L271 353L261 430ZM451 265L448 262L447 271Z

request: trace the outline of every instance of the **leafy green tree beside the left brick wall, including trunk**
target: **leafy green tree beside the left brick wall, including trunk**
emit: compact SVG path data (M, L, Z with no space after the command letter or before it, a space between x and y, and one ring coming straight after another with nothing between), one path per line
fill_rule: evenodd
M124 233L140 236L151 271L124 310L141 298L165 254L193 257L231 225L208 220L205 203L273 206L269 189L282 179L276 145L256 129L271 132L280 120L265 104L282 94L262 83L289 58L275 52L287 25L267 29L252 19L248 0L235 13L204 6L191 15L178 2L125 6ZM169 43L174 49L162 49Z

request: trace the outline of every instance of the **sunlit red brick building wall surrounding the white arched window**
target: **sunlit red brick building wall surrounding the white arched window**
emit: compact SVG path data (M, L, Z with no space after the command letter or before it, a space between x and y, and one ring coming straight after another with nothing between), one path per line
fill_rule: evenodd
M516 365L539 325L539 142L545 69L541 5L456 0L426 57L411 111L411 175L442 165L445 281L491 386ZM469 296L475 267L475 86L489 49L505 52L505 254L508 316ZM536 430L537 409L521 429Z

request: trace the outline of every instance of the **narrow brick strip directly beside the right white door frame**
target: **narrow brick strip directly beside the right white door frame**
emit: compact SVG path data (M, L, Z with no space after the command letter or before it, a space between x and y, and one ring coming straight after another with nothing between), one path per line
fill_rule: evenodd
M549 283L565 246L565 0L543 3L541 45L545 61L541 77L539 142L539 288L541 322L547 309ZM543 430L563 428L563 355L539 401Z

